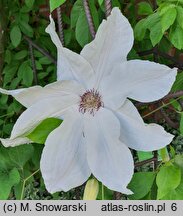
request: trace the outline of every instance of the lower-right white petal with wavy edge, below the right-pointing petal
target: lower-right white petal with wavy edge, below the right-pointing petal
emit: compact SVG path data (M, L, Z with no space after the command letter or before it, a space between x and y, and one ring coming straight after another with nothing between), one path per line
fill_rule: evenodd
M116 113L121 124L120 140L132 149L158 150L168 145L174 137L160 125L145 124L138 110L129 100L126 100Z

